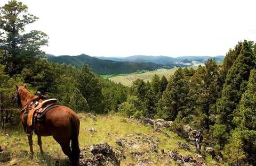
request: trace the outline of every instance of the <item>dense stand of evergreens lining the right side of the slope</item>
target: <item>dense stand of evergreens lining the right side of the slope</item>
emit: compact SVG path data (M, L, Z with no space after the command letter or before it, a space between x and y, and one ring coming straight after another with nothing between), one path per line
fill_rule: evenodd
M205 128L205 143L227 165L256 165L256 44L238 42L223 64L209 59L205 66L179 68L167 82L155 75L151 82L133 82L118 111L127 116L163 118Z

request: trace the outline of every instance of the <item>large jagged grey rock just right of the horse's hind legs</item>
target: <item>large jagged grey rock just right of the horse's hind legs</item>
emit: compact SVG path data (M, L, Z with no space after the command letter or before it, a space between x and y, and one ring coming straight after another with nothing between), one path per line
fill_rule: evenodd
M81 159L79 164L81 166L87 165L113 165L119 166L120 161L116 158L116 154L113 149L106 143L94 144L90 147L92 157L89 159ZM86 152L85 152L86 153Z

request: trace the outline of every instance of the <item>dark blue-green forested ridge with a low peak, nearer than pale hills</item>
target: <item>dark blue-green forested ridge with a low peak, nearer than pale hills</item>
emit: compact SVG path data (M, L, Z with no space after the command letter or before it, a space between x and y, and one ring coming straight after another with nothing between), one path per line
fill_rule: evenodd
M153 71L157 68L163 68L163 65L155 63L118 62L114 60L103 60L85 54L78 56L54 56L48 54L47 59L55 63L74 65L78 68L81 68L84 62L86 62L93 72L100 75L133 73L141 70Z

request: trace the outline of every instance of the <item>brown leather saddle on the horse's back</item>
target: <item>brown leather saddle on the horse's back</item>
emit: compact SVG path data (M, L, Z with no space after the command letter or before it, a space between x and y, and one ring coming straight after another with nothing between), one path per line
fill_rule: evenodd
M59 106L55 104L57 101L57 99L48 99L44 101L31 102L29 105L27 125L33 126L33 122L43 121L44 115L47 111Z

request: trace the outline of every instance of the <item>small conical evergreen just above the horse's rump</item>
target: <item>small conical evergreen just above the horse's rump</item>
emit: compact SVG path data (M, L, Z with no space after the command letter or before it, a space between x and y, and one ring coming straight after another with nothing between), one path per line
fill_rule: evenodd
M69 106L76 112L89 112L88 103L77 88L75 88L73 94L71 94Z

